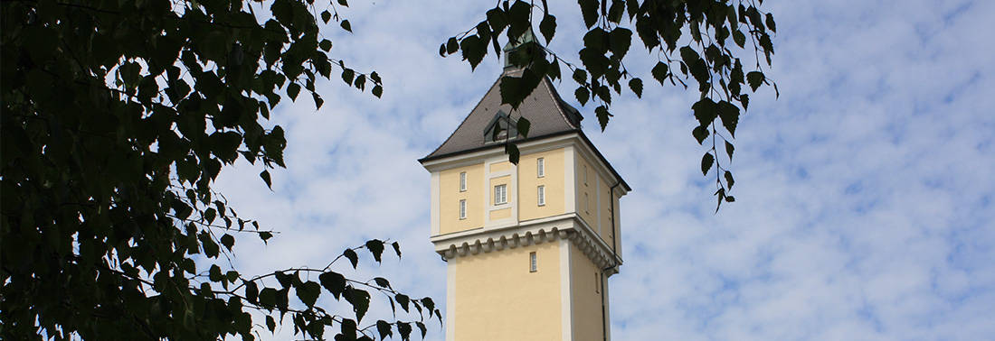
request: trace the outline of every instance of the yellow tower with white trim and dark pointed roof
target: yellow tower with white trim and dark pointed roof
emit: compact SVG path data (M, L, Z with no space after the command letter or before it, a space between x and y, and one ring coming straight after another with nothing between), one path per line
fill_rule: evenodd
M516 110L501 104L499 79L419 160L447 262L446 340L609 340L607 279L622 264L619 198L631 188L548 78ZM514 128L522 117L527 137Z

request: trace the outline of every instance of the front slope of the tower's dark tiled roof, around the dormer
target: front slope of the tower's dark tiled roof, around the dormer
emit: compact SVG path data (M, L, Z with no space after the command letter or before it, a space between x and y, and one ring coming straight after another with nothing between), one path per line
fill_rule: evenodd
M510 105L501 104L499 83L500 78L498 77L480 103L477 103L470 115L456 128L453 135L450 135L446 142L443 142L439 148L422 159L422 162L478 150L487 146L500 146L485 141L485 129L494 120L498 111L510 114L511 119L519 117L527 119L530 123L528 129L528 137L530 138L580 130L580 120L583 119L580 112L559 97L556 88L553 87L548 78L543 78L535 90L518 106L518 109L513 111Z

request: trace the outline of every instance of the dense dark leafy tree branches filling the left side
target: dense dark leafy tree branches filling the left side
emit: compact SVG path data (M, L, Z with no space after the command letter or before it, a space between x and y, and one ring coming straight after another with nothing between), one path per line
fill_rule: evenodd
M305 90L320 108L315 83L333 71L383 93L379 74L331 57L320 33L318 20L352 32L345 0L0 6L0 338L254 339L290 315L307 338L376 339L393 328L407 339L412 325L424 337L426 315L440 316L431 298L382 277L299 268L247 279L233 266L235 234L267 242L277 232L239 217L212 186L244 158L272 187L287 139L266 120L283 95ZM372 240L344 257L356 267L365 249L379 262L383 248ZM418 318L359 327L369 292ZM326 309L323 296L353 311Z

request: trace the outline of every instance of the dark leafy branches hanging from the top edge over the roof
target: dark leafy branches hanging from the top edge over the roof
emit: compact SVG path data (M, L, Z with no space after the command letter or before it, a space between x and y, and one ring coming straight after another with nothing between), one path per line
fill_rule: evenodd
M768 85L778 94L777 84L763 69L771 64L774 54L771 35L777 28L773 15L761 11L760 4L762 0L580 0L580 14L588 32L583 37L583 48L577 53L579 62L570 62L547 48L557 25L546 1L540 4L501 1L487 11L486 19L476 27L442 44L439 54L446 57L459 53L476 68L490 53L489 46L496 55L500 54L498 40L502 34L506 42L519 43L518 39L532 29L535 18L541 16L538 29L545 45L529 42L506 56L521 71L502 76L502 103L517 108L542 77L562 80L560 64L563 64L577 84L574 91L577 101L595 106L598 124L604 130L614 116L613 93L621 95L628 87L637 97L643 96L642 78L624 62L638 38L650 56L657 57L646 71L661 86L669 83L687 88L692 80L698 85L699 99L691 105L698 126L692 136L699 145L711 139L711 146L701 157L701 172L707 175L715 169L717 211L723 201L732 202L735 198L729 194L734 183L732 172L716 158L719 154L716 146L724 145L731 162L739 116L749 106L746 87L756 92ZM750 52L753 68L746 69L738 56ZM520 128L519 133L527 135L527 125ZM725 132L728 138L723 135ZM512 161L517 159L513 143L505 150Z

